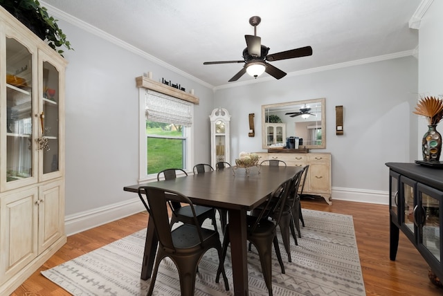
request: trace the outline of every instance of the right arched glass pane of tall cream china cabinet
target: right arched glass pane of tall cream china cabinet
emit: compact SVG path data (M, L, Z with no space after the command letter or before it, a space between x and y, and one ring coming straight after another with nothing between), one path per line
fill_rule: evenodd
M43 111L39 114L39 148L43 152L43 174L59 170L59 77L57 68L43 62Z

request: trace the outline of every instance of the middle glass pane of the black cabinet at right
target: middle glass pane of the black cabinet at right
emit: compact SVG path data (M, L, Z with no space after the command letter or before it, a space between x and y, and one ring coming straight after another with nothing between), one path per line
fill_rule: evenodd
M401 229L403 229L404 234L411 241L416 241L415 233L417 232L416 226L416 215L417 215L417 204L414 202L414 194L417 187L417 182L400 176L400 186L401 186L401 196L402 200L402 216L401 216Z

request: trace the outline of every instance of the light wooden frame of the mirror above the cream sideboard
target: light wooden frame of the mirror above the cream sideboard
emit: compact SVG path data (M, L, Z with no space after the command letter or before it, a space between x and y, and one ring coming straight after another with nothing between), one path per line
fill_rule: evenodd
M281 108L281 107L288 107L291 109L294 105L304 105L304 104L312 104L312 103L321 103L321 130L322 130L322 139L321 139L321 145L303 145L303 147L306 147L307 149L325 149L326 148L326 106L325 106L325 98L319 98L314 100L304 100L304 101L295 101L295 102L284 102L279 104L268 104L268 105L262 105L262 149L269 149L271 147L266 146L266 128L265 128L265 114L266 109L272 109L272 108Z

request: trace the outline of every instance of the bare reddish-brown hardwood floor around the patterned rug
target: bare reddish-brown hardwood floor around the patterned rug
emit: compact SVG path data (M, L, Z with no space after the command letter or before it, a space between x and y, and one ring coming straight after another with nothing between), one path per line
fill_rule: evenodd
M304 200L302 207L353 216L367 295L443 295L443 289L429 281L426 261L401 232L397 260L390 261L387 205L348 201L333 201L332 205L327 205L321 198L315 201ZM132 234L145 228L146 224L147 214L142 212L68 237L66 245L12 295L69 295L40 275L40 271Z

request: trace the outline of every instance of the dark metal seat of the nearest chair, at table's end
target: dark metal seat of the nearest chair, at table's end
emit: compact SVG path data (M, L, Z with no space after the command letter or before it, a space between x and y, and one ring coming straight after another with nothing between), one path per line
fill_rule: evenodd
M185 252L194 252L193 248L201 248L201 240L199 238L199 232L197 226L191 224L180 225L177 229L172 230L172 243L176 249L186 249ZM201 228L201 236L204 241L210 239L210 237L217 237L218 234L215 230ZM181 250L183 252L183 250Z

